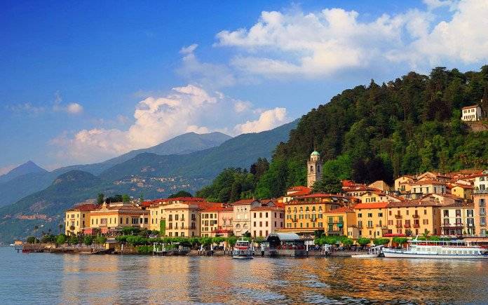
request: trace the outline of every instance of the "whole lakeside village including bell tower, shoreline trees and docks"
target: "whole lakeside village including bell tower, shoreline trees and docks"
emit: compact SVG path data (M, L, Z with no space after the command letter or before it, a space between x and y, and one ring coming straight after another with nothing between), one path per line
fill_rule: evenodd
M307 187L291 187L280 198L211 203L179 197L76 205L65 212L65 234L53 236L53 243L32 238L23 248L214 255L219 250L229 254L245 238L261 255L304 256L351 255L351 250L375 245L405 248L412 238L462 239L481 249L488 245L488 170L402 175L393 186L344 180L341 194L313 194L321 166L320 154L313 151Z

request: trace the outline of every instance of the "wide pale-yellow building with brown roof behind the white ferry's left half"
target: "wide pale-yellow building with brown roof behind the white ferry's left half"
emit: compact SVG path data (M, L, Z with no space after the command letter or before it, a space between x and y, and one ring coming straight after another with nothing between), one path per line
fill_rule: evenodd
M388 233L440 235L441 206L437 201L421 200L388 203Z

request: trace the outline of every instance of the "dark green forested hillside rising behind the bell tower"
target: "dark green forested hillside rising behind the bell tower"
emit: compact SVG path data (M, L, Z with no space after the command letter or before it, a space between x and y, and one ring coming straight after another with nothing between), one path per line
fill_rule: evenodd
M325 176L356 182L487 167L488 132L472 133L460 119L462 107L480 103L486 117L488 65L466 73L438 67L429 76L410 72L344 90L301 117L288 142L276 147L269 170L254 189L242 187L241 197L277 197L304 185L314 149Z

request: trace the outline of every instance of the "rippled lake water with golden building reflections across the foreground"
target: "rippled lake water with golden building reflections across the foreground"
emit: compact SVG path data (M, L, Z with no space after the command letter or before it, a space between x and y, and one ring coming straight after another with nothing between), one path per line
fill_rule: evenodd
M488 303L488 262L18 254L0 247L1 304Z

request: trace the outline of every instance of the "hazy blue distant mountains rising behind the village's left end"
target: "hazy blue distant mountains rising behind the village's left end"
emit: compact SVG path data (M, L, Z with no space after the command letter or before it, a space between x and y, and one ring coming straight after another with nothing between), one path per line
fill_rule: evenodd
M0 242L32 234L34 226L55 231L64 210L100 192L135 198L161 198L179 190L194 193L224 168L249 168L257 158L270 159L297 123L233 138L222 133L186 133L102 163L52 172L34 170L10 179L0 184L0 198L23 198L7 205L0 201L5 205L0 208Z

